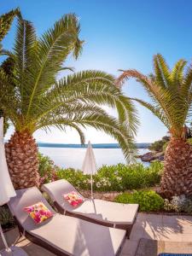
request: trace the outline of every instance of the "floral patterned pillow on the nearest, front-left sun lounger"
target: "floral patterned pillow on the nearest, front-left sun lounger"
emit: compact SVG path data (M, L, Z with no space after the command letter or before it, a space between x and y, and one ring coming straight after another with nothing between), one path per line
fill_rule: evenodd
M29 214L36 224L40 224L53 216L53 213L45 207L43 202L38 202L31 207L25 207L23 210Z

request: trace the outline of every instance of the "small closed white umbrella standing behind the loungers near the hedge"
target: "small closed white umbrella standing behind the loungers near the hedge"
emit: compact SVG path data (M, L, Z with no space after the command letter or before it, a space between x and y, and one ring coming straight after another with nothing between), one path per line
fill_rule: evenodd
M93 198L93 174L96 174L96 158L93 152L93 148L90 144L88 143L86 154L84 157L84 163L82 166L82 171L84 174L90 174L91 180L91 198Z

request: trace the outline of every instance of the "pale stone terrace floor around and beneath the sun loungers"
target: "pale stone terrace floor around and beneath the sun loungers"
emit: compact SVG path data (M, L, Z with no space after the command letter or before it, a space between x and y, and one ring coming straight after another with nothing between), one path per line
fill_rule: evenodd
M9 244L17 241L17 229L5 233ZM192 241L192 216L168 216L139 213L137 222L131 231L130 240L125 241L121 256L134 256L140 238L157 241ZM24 237L17 241L17 246L23 247L28 255L53 256L42 247L38 247ZM0 249L3 248L0 240ZM150 255L148 255L150 256Z

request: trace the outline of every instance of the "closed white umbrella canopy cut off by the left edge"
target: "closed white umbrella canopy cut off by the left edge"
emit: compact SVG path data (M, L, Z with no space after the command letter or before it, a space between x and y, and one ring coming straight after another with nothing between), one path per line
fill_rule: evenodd
M0 119L0 206L15 196L15 189L9 177L3 143L3 118Z

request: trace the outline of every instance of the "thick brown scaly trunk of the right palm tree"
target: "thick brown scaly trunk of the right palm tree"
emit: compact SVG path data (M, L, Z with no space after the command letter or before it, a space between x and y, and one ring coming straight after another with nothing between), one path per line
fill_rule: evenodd
M166 148L160 194L192 195L192 146L183 139L172 138Z

